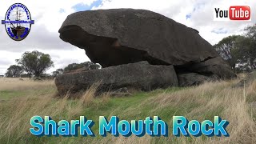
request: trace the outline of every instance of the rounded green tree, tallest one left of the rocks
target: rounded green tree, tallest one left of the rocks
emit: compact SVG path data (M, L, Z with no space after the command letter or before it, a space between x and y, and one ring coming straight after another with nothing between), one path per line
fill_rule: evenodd
M37 50L25 52L22 54L22 58L16 61L30 75L30 78L31 74L34 74L35 77L40 77L43 72L54 66L49 54L43 54Z

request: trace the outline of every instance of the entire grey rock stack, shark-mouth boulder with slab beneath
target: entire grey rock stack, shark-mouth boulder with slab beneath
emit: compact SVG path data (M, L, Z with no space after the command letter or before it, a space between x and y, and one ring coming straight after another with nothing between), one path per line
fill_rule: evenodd
M55 80L60 93L86 90L98 81L104 90L153 90L235 77L197 30L149 10L77 12L66 18L59 33L102 65L101 70L62 74Z

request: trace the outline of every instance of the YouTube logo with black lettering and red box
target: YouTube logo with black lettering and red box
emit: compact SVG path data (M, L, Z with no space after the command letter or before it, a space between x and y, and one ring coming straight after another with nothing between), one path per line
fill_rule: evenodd
M214 7L214 21L250 21L250 6Z

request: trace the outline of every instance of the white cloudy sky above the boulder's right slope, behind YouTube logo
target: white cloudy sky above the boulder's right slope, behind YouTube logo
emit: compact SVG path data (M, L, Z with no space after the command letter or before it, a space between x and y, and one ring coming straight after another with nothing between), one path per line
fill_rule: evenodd
M215 6L250 6L252 12L252 21L250 22L214 22L213 12ZM104 1L102 6L94 7L94 9L110 9L110 8L136 8L146 9L158 12L168 18L174 19L186 26L193 27L199 31L202 38L205 38L212 45L219 42L222 38L231 34L242 34L242 30L256 22L256 1L254 0L111 0ZM190 14L190 18L186 18L186 14ZM212 31L225 28L226 34L215 34Z

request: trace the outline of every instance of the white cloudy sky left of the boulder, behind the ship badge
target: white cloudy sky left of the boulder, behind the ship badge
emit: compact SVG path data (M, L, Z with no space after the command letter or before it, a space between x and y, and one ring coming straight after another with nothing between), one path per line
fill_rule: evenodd
M83 3L90 6L95 0L72 0L72 1L23 1L29 10L35 24L32 25L30 34L21 42L15 42L6 34L4 26L0 26L0 74L15 64L15 59L21 58L25 51L39 50L54 60L54 69L62 68L72 62L89 61L84 50L78 49L70 43L63 42L59 38L58 29L66 16L74 13L72 6ZM20 1L0 2L0 18L4 19L6 10L14 3ZM63 10L60 13L60 10Z

